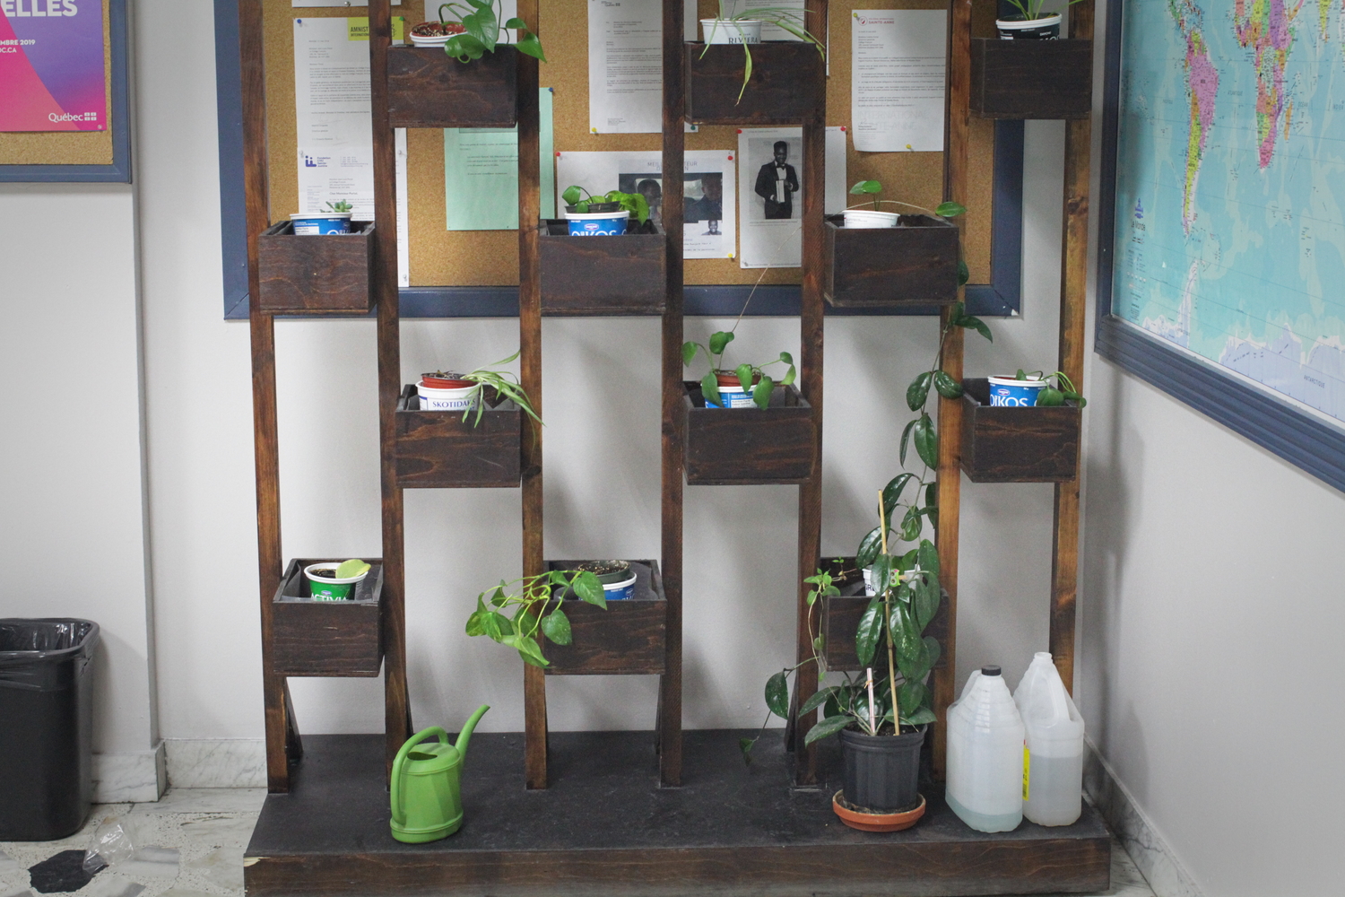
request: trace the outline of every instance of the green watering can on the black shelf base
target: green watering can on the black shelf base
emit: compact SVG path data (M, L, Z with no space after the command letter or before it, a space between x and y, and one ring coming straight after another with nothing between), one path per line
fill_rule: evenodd
M471 715L457 744L438 726L417 732L393 761L393 838L408 845L448 838L463 827L463 760L472 729L490 710L484 703ZM438 736L437 742L426 742Z

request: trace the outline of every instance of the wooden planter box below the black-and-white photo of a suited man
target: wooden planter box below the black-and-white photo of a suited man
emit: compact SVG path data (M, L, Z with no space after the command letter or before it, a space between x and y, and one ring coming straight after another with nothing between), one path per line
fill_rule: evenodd
M812 475L812 406L794 386L771 406L706 407L701 385L683 382L686 481L691 485L802 483Z

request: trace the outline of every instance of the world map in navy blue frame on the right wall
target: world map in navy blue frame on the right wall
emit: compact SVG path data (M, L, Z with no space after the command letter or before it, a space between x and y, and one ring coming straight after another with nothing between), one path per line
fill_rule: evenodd
M1345 9L1107 15L1098 352L1345 490Z

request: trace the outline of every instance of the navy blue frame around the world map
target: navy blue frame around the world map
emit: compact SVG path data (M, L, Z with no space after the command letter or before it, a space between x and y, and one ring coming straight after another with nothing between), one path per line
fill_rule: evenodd
M1116 239L1116 148L1120 136L1120 67L1124 0L1107 3L1107 56L1102 109L1102 188L1098 223L1098 327L1095 351L1235 433L1345 491L1345 429L1332 426L1251 386L1219 364L1184 352L1111 313Z

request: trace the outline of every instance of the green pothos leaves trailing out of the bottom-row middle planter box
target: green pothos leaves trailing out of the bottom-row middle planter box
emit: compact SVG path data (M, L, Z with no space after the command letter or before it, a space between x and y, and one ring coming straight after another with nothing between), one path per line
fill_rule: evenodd
M518 651L523 663L550 666L542 654L538 633L555 644L570 644L570 621L562 611L565 601L557 594L596 604L607 609L603 584L589 570L551 570L500 584L490 593L476 596L476 611L467 617L467 635L484 635ZM512 616L510 616L512 613Z

